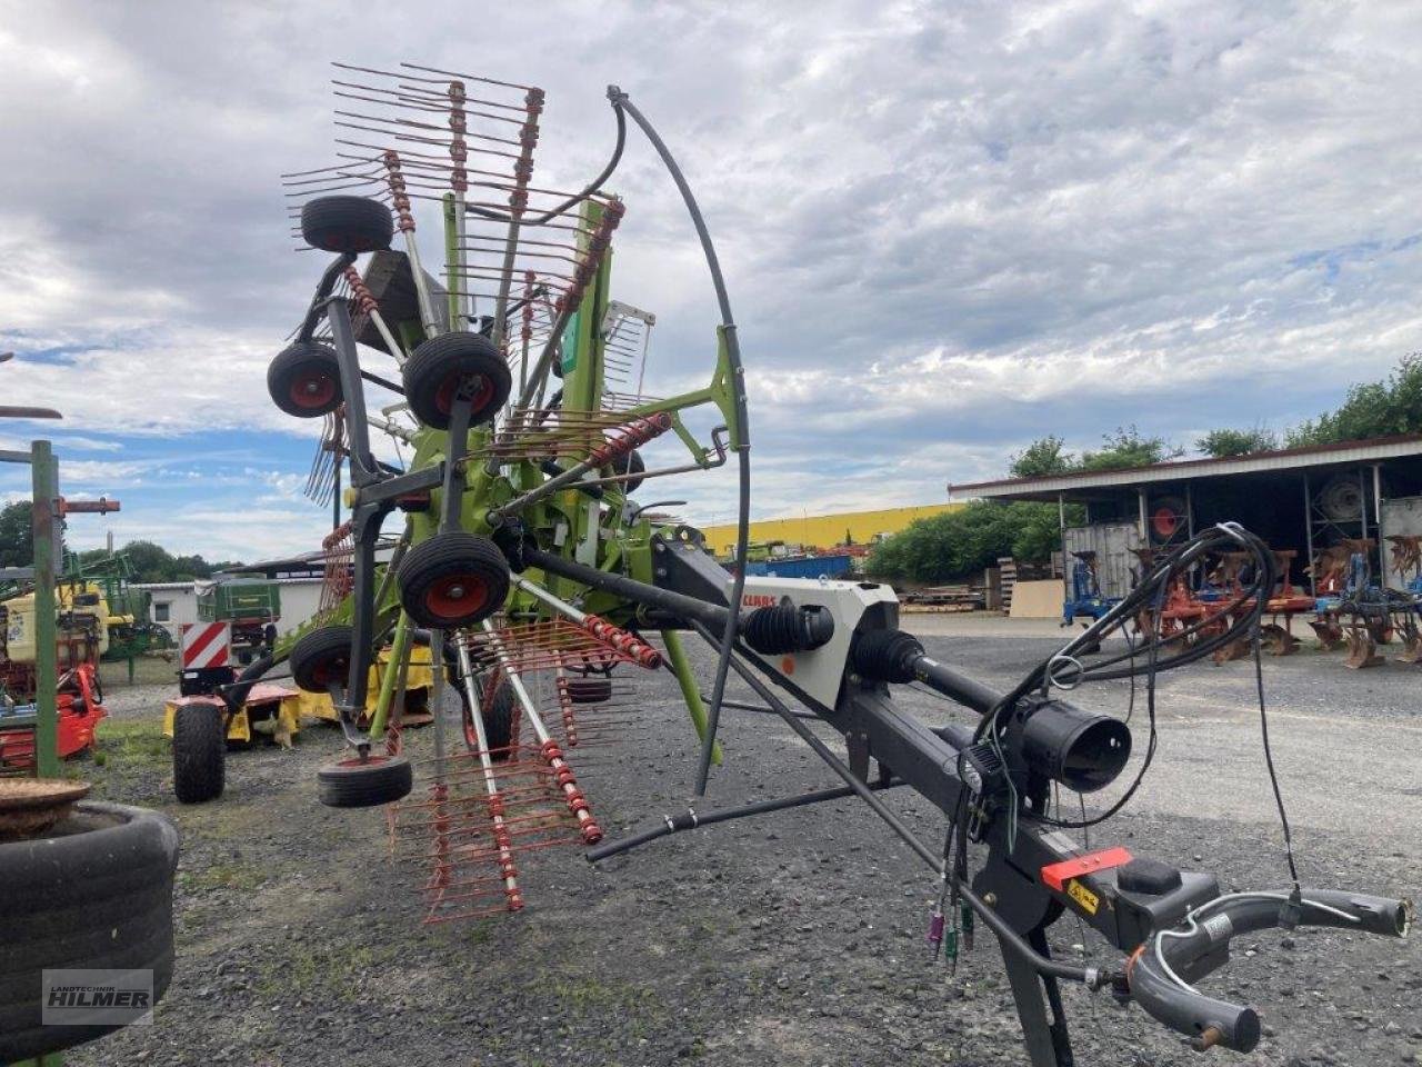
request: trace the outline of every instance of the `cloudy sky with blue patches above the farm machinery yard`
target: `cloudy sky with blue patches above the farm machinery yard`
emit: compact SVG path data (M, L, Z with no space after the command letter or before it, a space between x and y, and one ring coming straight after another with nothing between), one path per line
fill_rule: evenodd
M330 60L408 60L546 88L556 188L609 83L653 118L728 276L758 516L939 501L1048 432L1283 428L1422 349L1418 57L1401 1L0 0L0 403L61 408L65 489L122 499L78 545L314 548L314 430L264 370L320 265L277 175L333 161ZM653 377L708 373L636 134L609 188ZM656 488L731 518L729 471Z

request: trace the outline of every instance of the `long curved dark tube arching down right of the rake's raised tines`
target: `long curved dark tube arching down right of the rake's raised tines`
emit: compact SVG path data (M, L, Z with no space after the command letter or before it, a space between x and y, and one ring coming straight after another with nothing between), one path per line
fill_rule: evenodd
M741 366L741 344L737 340L735 319L731 314L731 297L727 293L725 277L721 275L721 262L717 259L715 245L711 242L711 232L707 229L705 219L701 216L701 208L697 206L697 198L693 195L691 186L687 185L687 179L681 174L681 168L677 165L671 151L663 142L661 137L657 135L651 122L648 122L641 111L638 111L637 107L627 98L626 92L616 85L609 85L607 98L613 101L619 114L626 111L631 115L633 121L641 128L641 132L647 135L648 141L651 141L651 147L657 149L657 155L661 156L661 162L671 175L671 181L677 184L677 189L681 192L681 199L687 205L687 213L691 215L691 223L695 226L697 236L701 239L701 252L705 255L707 270L711 272L711 285L715 287L717 304L721 309L721 336L725 340L727 363L731 364L731 396L735 404L735 428L738 438L738 444L735 445L737 465L739 471L735 516L737 568L735 578L731 582L731 605L738 609L741 595L745 590L745 546L749 542L751 531L751 418L745 404L745 368ZM728 612L725 617L725 629L721 633L721 646L715 664L715 681L711 687L711 704L707 707L705 736L701 738L701 760L697 764L695 782L697 797L704 797L707 791L707 777L711 773L711 757L715 751L717 727L721 721L721 700L725 696L725 680L731 670L731 654L735 650L738 626L739 610Z

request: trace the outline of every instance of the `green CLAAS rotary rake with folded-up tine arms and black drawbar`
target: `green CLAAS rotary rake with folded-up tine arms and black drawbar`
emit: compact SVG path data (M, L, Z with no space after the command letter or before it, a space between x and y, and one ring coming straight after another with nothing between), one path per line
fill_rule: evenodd
M348 741L347 757L320 773L323 802L391 804L397 848L425 866L431 920L522 908L518 855L528 849L580 844L596 862L694 827L857 797L940 886L930 940L956 956L977 923L997 936L1034 1067L1072 1063L1062 982L1135 1002L1197 1049L1247 1051L1260 1039L1257 1013L1193 984L1227 960L1231 938L1298 925L1406 932L1405 901L1301 888L1291 849L1284 889L1223 892L1206 871L1123 848L1089 852L1065 832L1108 819L1149 768L1159 671L1244 632L1257 654L1276 565L1257 538L1226 525L1173 546L1007 693L924 654L897 629L897 602L883 586L727 575L697 531L631 501L653 478L734 454L744 549L749 441L729 299L691 189L646 117L611 88L609 165L583 189L557 192L535 171L542 91L415 65L337 71L336 162L287 178L299 236L333 259L269 386L282 410L340 424L326 440L338 442L334 467L343 458L348 477L348 542L338 539L350 589L290 649L290 664L297 684L333 696ZM654 317L610 294L624 206L604 186L630 122L685 202L721 312L705 384L668 398L643 394ZM417 239L417 215L435 213L437 240L427 229ZM431 275L435 245L444 262ZM677 370L684 378L685 367ZM367 383L402 400L370 413ZM371 430L408 458L378 460ZM685 455L646 462L643 448L657 438L674 438ZM395 512L402 529L381 559L378 539ZM1254 580L1224 606L1236 625L1217 632L1209 620L1180 620L1162 637L1167 592L1220 551L1254 563ZM1140 613L1152 617L1145 639L1102 643ZM687 632L717 652L705 704L681 646ZM391 708L398 671L387 671L360 726L367 669L387 642L397 664L428 643L462 708L455 741L437 716L418 790ZM757 693L757 710L779 717L842 785L749 805L698 801L603 839L572 763L626 717L617 679L636 669L677 679L701 737L697 797L720 758L731 671ZM1061 818L1054 792L1112 785L1132 747L1125 723L1062 691L1138 674L1152 730L1135 781L1102 814ZM961 706L970 721L930 728L900 711L892 687L909 683ZM1260 713L1263 723L1263 700ZM843 736L842 751L826 727ZM927 844L884 804L882 791L903 787L943 814L943 844ZM1287 844L1287 819L1284 829ZM1054 959L1047 932L1068 912L1119 949L1119 963Z

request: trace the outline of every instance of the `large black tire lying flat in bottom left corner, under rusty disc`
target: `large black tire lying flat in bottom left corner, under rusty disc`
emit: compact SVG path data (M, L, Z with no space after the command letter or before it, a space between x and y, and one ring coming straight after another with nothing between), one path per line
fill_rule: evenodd
M178 831L152 811L81 801L46 835L0 842L0 1063L119 1029L43 1026L41 972L151 969L172 980Z

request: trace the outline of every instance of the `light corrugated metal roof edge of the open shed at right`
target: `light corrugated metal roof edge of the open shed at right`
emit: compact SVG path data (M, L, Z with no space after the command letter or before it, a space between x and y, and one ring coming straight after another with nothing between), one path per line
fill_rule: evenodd
M948 484L948 495L967 497L1030 497L1038 494L1071 492L1076 489L1105 489L1149 485L1152 482L1182 482L1194 478L1216 478L1231 474L1267 474L1310 467L1337 467L1378 462L1406 455L1422 455L1422 434L1378 437L1369 441L1308 448L1283 448L1276 452L1253 452L1227 460L1182 460L1152 467L1128 467L1122 471L1071 471L1039 478L1000 478L990 482Z

